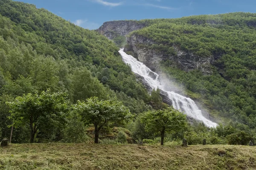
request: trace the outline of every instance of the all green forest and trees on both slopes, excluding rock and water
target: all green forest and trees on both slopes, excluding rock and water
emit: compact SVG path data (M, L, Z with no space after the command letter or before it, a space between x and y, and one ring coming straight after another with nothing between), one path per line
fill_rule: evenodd
M212 75L181 71L168 59L161 65L212 113L229 119L208 128L189 124L163 103L159 89L149 95L103 35L44 8L0 0L0 137L9 139L13 128L12 143L180 144L186 138L247 145L256 137L254 15L142 20L147 27L131 33L168 55L175 55L172 45L201 57L222 55Z

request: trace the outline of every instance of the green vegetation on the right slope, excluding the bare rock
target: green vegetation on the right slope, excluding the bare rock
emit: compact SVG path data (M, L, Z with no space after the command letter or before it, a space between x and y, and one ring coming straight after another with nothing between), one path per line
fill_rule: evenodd
M146 27L129 36L154 42L137 44L166 55L162 71L182 84L186 93L219 117L256 127L256 14L230 13L179 19L141 20ZM183 71L169 57L175 48L214 58L210 70ZM225 121L228 122L228 121Z

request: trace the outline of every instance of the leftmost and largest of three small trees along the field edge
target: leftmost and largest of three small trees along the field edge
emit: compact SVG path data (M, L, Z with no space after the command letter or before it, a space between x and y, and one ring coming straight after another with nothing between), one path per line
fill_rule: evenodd
M34 142L35 134L47 123L52 124L63 122L68 112L67 93L51 93L50 90L41 94L27 94L16 97L15 101L7 102L9 105L13 125L29 124L30 143Z

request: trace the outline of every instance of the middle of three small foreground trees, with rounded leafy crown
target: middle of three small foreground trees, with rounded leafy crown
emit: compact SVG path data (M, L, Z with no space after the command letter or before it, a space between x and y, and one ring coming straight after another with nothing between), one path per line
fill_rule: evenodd
M129 109L113 99L99 100L97 97L87 99L86 102L78 101L74 111L81 115L85 124L94 125L95 143L99 142L99 130L109 122L121 123L131 119Z

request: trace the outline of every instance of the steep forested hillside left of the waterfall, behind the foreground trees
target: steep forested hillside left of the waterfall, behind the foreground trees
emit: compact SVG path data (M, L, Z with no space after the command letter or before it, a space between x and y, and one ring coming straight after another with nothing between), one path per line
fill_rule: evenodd
M35 91L67 91L71 104L92 96L110 96L132 113L151 109L145 104L149 99L147 91L122 62L118 50L96 31L75 26L44 8L0 0L1 139L9 138L11 133L6 102ZM76 120L66 121L67 127L84 130ZM66 131L65 127L48 122L36 134L36 140L59 141L65 138ZM27 125L14 128L12 142L28 141Z

